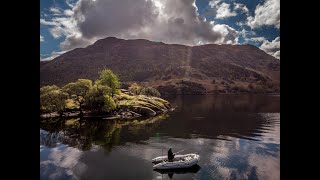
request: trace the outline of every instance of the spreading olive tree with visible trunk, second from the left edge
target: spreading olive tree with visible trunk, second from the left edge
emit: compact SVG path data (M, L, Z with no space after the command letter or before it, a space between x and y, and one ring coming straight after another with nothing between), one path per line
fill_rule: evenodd
M76 82L69 83L63 87L63 90L69 95L75 95L74 100L79 103L80 113L82 113L82 106L85 102L84 97L92 89L92 81L89 79L78 79Z

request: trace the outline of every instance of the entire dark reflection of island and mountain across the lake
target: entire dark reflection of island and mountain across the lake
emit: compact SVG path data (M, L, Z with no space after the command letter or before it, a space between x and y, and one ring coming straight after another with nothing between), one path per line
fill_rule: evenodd
M154 136L175 138L255 139L279 118L264 118L261 112L279 112L278 96L184 96L171 99L175 111L147 120L67 119L40 123L40 144L62 142L82 150L93 144L111 151L127 142L143 143ZM278 123L278 122L276 122Z

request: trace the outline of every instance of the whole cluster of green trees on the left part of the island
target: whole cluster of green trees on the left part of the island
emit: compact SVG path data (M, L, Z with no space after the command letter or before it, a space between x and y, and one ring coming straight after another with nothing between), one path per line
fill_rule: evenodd
M116 108L113 96L119 93L119 78L110 69L99 72L94 85L89 79L78 79L62 88L56 85L40 88L41 112L58 112L66 109L66 101L73 99L79 104L79 110L109 112Z

